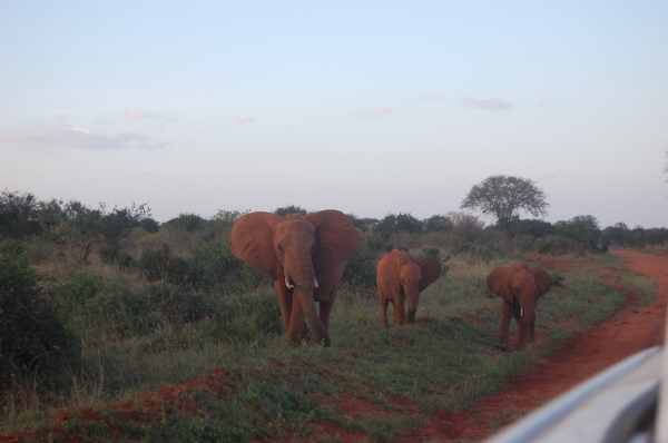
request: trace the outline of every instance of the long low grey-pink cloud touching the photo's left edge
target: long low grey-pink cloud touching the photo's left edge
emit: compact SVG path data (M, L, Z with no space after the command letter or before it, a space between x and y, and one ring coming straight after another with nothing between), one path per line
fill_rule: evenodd
M156 149L168 142L145 134L124 132L116 136L96 134L89 128L62 124L30 124L19 129L0 130L0 144L14 144L23 149Z

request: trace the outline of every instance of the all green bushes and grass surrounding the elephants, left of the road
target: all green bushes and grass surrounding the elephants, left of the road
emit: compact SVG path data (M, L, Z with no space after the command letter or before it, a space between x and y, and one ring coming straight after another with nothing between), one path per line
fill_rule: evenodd
M346 264L333 346L293 350L273 282L229 252L242 213L158 225L145 206L107 211L17 193L0 203L0 433L30 429L43 441L62 437L50 423L66 406L100 411L67 416L65 427L82 441L307 440L325 420L389 441L423 426L430 411L471 407L626 301L599 278L619 264L591 254L601 235L593 217L485 227L466 213L348 215L366 244ZM443 277L421 296L418 325L381 329L375 263L393 248L440 259ZM586 256L590 268L550 270L556 285L537 324L549 338L502 353L499 301L485 277L532 252ZM636 303L652 299L651 282L619 272ZM377 411L342 412L337 401L351 397ZM124 402L129 407L105 408Z

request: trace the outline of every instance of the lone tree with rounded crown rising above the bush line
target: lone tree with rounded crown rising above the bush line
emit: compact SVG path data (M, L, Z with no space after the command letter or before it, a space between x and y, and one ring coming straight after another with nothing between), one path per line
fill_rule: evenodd
M497 223L519 215L520 209L534 217L547 216L546 193L533 180L513 176L491 176L473 185L461 209L480 209L497 217Z

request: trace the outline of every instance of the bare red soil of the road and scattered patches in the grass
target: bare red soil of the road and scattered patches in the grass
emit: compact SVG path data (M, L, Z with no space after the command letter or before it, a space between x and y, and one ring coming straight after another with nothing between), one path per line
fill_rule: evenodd
M603 323L590 328L587 334L572 339L558 354L533 365L530 372L511 377L510 385L497 394L481 400L474 412L449 413L436 412L429 416L429 424L411 434L397 436L401 442L451 442L461 440L482 440L491 434L491 427L495 424L508 423L512 419L522 415L523 411L530 412L542 403L558 396L576 384L597 374L606 367L650 346L660 345L664 342L666 322L666 302L668 295L668 257L661 255L646 255L628 249L611 249L610 253L626 259L626 266L642 275L651 277L659 283L659 297L656 302L636 313L622 309L620 313L608 318ZM531 257L539 260L548 268L568 269L571 266L587 266L582 259L569 259L567 262L556 260L549 257ZM610 286L621 288L618 272L610 268L610 275L602 279ZM603 296L603 295L601 295ZM629 301L635 294L627 294ZM419 318L418 323L428 322L428 318ZM537 331L537 339L540 343L547 331ZM281 363L276 363L282 365ZM230 388L225 381L229 376L225 370L219 368L196 377L189 382L179 383L159 390L154 394L145 395L134 403L117 405L112 410L118 414L111 424L111 434L115 434L115 425L128 420L138 422L150 422L151 414L169 413L176 411L196 413L193 406L184 402L187 393L193 390L207 390L224 397L230 394ZM355 398L354 393L340 395L338 398L326 397L323 402L330 403L332 407L346 414L352 420L361 420L364 415L373 413L379 415L412 414L413 403L403 398L389 397L387 400L396 406L403 407L403 412L385 410L362 398ZM137 410L137 405L141 405ZM166 411L168 410L168 411ZM73 412L82 413L86 420L101 420L99 413L90 410L67 410L57 415L51 424L52 432L61 434L67 441L81 441L67 435L63 423ZM492 426L491 426L492 425ZM331 422L313 424L316 429L315 435L330 436L342 442L365 441L362 433L350 431ZM27 437L28 435L23 435ZM297 435L276 435L275 441L302 441ZM14 435L0 435L0 443L17 442Z

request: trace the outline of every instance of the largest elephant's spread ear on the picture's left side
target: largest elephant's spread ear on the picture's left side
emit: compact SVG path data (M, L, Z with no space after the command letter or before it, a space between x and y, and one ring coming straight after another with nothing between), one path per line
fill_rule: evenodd
M274 252L274 227L284 220L271 213L250 213L239 217L229 232L232 254L277 279L282 267Z

